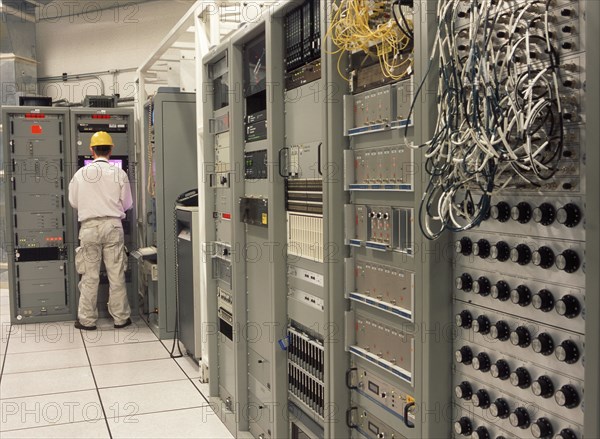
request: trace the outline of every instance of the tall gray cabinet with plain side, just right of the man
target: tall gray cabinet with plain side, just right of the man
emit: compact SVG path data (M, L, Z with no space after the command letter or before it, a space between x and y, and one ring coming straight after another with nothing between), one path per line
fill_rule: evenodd
M144 106L148 157L144 182L146 242L158 250L158 281L142 288L142 309L159 338L175 330L175 201L198 185L196 161L196 95L159 89Z

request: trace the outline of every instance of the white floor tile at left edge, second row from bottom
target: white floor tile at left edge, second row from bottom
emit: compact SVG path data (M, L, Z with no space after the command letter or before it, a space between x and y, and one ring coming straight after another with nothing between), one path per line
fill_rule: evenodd
M96 390L2 399L0 413L3 432L104 420Z

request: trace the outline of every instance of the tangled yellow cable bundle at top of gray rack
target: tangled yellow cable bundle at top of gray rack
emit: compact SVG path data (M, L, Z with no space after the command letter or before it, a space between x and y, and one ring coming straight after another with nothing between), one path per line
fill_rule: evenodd
M412 42L412 21L406 19L405 11L397 3L341 0L326 35L331 37L338 47L333 53L373 53L377 56L385 77L397 81L408 76L410 69L403 66L412 63L412 57L404 55L403 52ZM398 15L401 16L403 24L398 21ZM338 72L345 78L339 64Z

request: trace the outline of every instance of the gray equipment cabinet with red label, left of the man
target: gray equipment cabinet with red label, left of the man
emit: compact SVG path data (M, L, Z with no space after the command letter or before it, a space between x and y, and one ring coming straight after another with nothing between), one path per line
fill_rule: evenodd
M4 107L2 123L11 322L71 320L76 241L67 209L69 111Z

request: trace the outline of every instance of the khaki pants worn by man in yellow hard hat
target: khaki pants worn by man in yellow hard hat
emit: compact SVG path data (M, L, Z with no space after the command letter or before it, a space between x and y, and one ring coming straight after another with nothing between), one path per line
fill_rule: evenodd
M122 325L131 315L125 288L124 233L118 218L95 218L84 221L79 230L80 247L75 250L75 267L81 274L77 316L84 326L94 326L98 320L98 284L100 264L104 260L110 283L108 312L115 324Z

